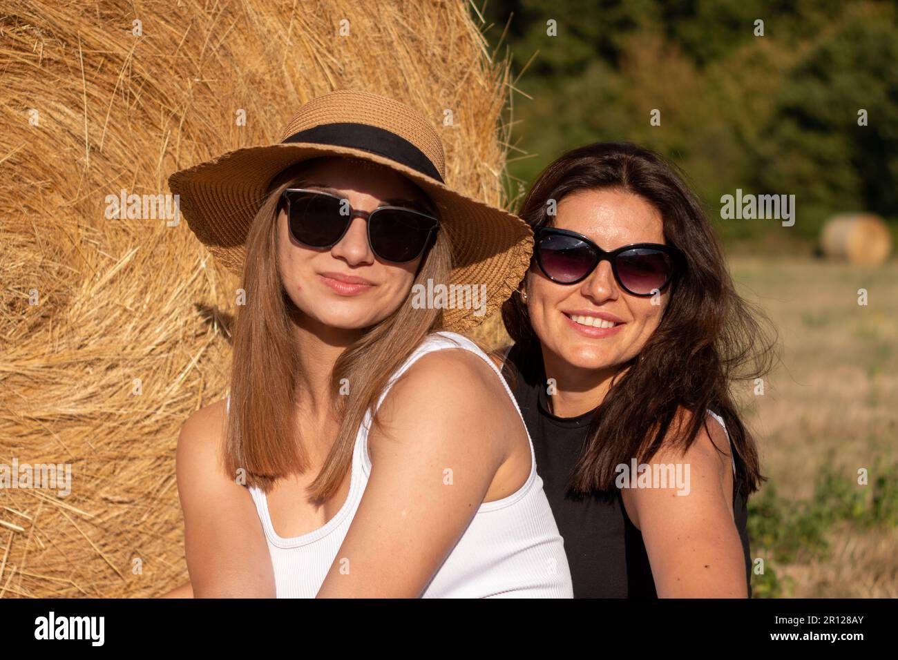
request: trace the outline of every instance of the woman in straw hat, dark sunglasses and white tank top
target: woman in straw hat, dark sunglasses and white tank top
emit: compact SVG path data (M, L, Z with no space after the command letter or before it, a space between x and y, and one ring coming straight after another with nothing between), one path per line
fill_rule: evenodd
M570 597L520 411L458 334L532 233L445 185L427 119L331 92L170 185L245 291L230 394L178 441L193 594ZM486 313L412 305L428 279L485 285Z

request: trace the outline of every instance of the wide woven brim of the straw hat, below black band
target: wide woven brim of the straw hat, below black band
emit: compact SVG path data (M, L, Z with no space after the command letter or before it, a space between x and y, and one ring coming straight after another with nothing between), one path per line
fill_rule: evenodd
M246 236L271 180L295 163L328 155L390 167L418 185L439 209L440 231L449 234L453 251L453 270L446 284L485 285L487 292L485 310L443 309L441 329L472 330L520 284L533 252L533 232L521 218L362 149L302 142L247 147L175 172L169 187L179 196L180 213L190 230L216 260L242 277Z

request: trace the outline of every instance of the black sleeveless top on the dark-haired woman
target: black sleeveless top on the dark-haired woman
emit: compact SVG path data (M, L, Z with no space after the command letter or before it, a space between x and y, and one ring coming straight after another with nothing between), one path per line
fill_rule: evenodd
M536 471L564 539L575 598L657 598L642 532L629 520L620 488L580 496L568 479L583 450L595 409L575 418L550 413L546 376L538 342L528 355L512 347L503 367L533 440ZM735 454L734 454L735 456ZM737 458L737 457L736 457ZM745 558L745 581L752 595L747 497L734 483L733 512Z

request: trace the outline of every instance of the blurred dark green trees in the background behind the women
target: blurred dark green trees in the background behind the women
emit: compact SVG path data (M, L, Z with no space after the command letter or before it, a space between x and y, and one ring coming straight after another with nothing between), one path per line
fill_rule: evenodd
M631 141L682 167L729 240L810 242L846 211L895 226L894 2L499 0L483 13L520 90L512 197L569 148ZM795 195L795 226L722 220L736 189Z

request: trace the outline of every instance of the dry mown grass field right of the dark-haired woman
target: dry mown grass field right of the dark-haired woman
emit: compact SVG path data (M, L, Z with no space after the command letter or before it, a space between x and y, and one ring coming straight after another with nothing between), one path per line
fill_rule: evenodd
M762 396L736 392L769 478L750 500L754 594L898 597L898 263L739 257L730 269L781 351ZM504 343L496 318L479 334Z

